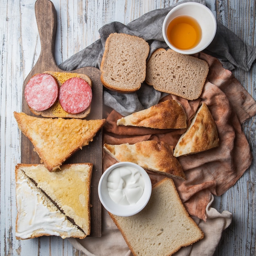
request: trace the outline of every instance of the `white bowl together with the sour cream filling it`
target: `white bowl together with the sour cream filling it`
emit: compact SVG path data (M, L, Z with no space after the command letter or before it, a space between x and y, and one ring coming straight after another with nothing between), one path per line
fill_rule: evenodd
M150 199L152 184L148 173L132 162L110 166L101 176L99 199L107 211L117 216L132 216Z

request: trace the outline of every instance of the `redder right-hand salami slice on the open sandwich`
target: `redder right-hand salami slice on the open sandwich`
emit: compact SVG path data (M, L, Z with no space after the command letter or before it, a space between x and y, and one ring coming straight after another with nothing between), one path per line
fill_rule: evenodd
M92 88L79 77L70 78L61 85L59 101L63 110L78 114L90 106Z

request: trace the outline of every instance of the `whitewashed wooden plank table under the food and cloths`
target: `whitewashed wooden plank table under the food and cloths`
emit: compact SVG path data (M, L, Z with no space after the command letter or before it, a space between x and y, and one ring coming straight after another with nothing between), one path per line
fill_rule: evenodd
M20 162L20 130L13 111L21 111L22 83L40 54L40 40L34 15L35 0L0 1L1 75L1 186L0 255L84 255L62 238L16 240L15 165ZM127 24L153 9L168 7L175 0L52 0L57 11L55 58L57 64L99 38L99 28L112 21ZM207 6L223 25L250 45L256 44L256 2L254 0L207 0ZM256 64L245 72L234 70L236 78L256 98ZM243 129L256 156L256 119ZM256 161L243 177L221 197L218 211L233 213L233 222L223 232L215 255L255 255L256 245Z

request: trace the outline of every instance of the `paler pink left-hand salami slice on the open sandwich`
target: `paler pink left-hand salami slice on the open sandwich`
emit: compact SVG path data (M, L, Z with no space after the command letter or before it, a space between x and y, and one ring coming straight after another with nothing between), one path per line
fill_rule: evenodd
M58 98L58 82L52 75L36 74L26 84L24 94L30 108L36 111L46 110Z

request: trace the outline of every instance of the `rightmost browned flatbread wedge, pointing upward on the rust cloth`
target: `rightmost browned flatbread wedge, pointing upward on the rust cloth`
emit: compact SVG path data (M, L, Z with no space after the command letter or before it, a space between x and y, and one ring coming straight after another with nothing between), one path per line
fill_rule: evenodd
M174 156L199 153L219 146L216 124L207 105L202 105L195 113L189 128L178 140Z

